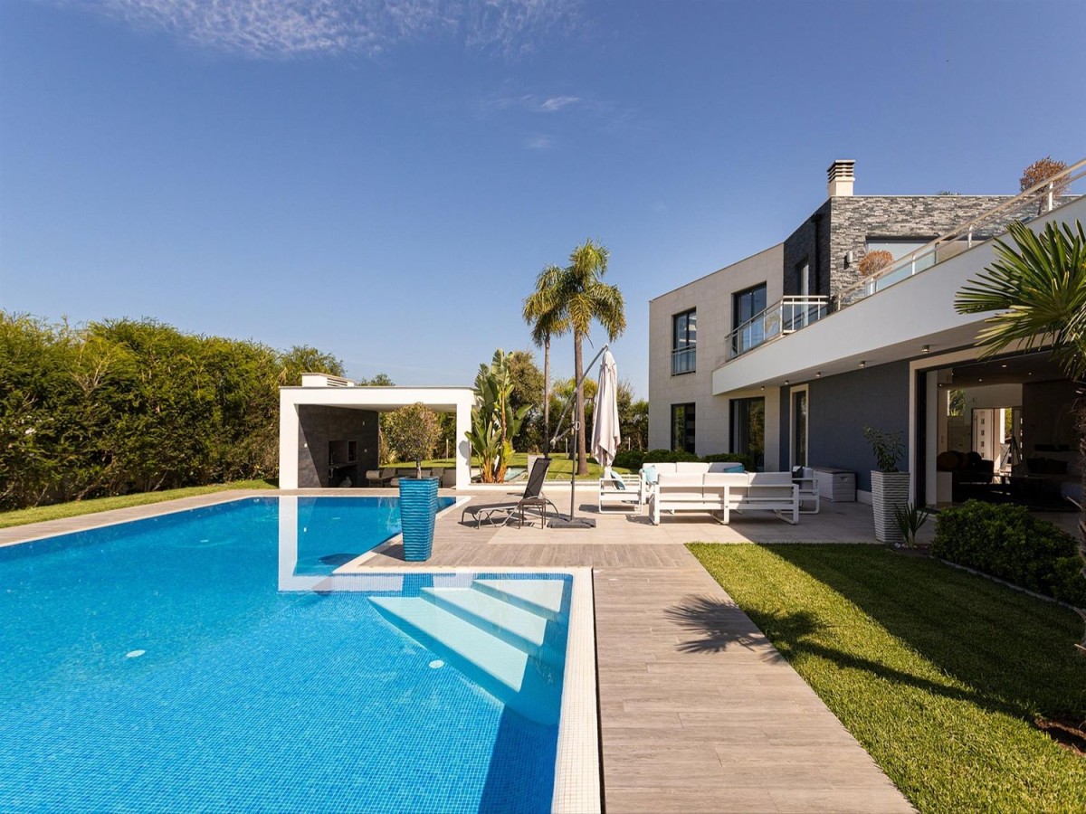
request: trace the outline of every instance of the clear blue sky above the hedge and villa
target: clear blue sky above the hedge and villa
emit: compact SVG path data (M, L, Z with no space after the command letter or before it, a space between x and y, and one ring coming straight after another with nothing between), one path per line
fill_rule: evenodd
M648 300L783 240L834 158L857 194L1012 193L1086 155L1083 30L1078 0L7 0L0 307L470 384L592 237L645 396Z

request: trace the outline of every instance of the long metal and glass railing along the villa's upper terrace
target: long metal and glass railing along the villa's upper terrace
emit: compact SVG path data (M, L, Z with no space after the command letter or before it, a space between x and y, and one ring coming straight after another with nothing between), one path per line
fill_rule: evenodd
M997 238L1006 233L1015 220L1028 222L1078 200L1079 195L1068 192L1071 185L1083 177L1086 177L1086 158L899 257L833 297L784 297L731 332L728 358L733 359L767 342L801 330L830 314L843 310L980 243Z

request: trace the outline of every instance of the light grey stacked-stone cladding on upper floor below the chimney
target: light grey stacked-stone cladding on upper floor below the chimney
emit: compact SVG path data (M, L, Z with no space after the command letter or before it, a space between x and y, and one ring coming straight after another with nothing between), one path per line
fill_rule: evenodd
M831 198L828 267L829 293L836 295L862 277L859 262L868 237L933 240L998 206L1010 195L855 195ZM820 209L821 211L821 209ZM987 237L978 234L977 237ZM845 268L845 253L853 262ZM788 267L785 266L785 276ZM820 289L820 293L826 293Z

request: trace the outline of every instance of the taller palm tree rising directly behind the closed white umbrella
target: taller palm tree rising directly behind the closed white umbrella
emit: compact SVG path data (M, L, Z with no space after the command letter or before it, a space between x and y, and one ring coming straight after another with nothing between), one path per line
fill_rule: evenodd
M544 269L546 284L536 284L541 293L541 313L552 315L556 323L567 323L573 333L573 376L580 381L584 373L582 343L589 335L593 321L599 322L614 342L626 330L626 302L617 285L603 281L607 274L609 253L605 246L586 240L569 255L569 265L559 269ZM588 474L589 462L584 432L584 389L576 394L577 473Z

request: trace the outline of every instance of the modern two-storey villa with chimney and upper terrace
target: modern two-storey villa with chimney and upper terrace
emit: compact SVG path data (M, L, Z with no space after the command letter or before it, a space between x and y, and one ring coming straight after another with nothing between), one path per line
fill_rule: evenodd
M1073 383L1044 352L981 361L984 317L954 300L1011 220L1086 220L1086 199L1059 195L1084 171L1016 196L857 195L854 162L835 161L783 242L651 302L649 446L855 472L869 501L872 427L902 433L918 503L971 484L1071 496ZM893 262L864 275L876 251Z

